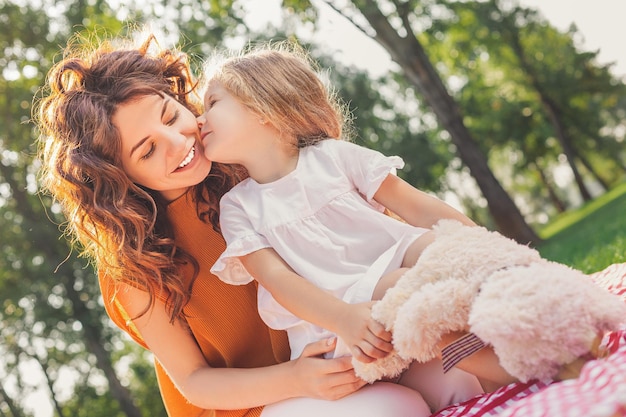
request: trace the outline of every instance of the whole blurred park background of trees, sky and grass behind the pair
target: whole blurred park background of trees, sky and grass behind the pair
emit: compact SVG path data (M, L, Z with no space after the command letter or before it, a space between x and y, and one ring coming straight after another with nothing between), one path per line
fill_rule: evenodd
M577 2L587 3L560 3ZM142 24L198 65L215 47L297 38L349 103L353 140L402 156L411 184L585 272L626 261L623 76L576 26L525 3L0 0L2 417L165 416L152 357L106 318L92 266L38 193L30 121L70 36L87 42ZM350 48L371 52L369 64L346 59ZM573 242L585 252L593 236L621 243L578 264Z

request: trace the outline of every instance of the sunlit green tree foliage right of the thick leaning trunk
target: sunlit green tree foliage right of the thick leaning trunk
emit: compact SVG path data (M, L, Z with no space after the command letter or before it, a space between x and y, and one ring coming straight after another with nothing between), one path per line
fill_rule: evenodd
M576 48L576 28L562 33L511 1L448 7L452 17L429 29L443 44L429 50L460 80L456 97L482 149L510 156L512 165L492 165L508 169L499 176L509 178L508 189L530 194L527 212L578 201L554 185L553 172L565 165L585 200L589 184L603 191L621 182L623 136L608 126L621 124L624 85L596 63L597 52Z

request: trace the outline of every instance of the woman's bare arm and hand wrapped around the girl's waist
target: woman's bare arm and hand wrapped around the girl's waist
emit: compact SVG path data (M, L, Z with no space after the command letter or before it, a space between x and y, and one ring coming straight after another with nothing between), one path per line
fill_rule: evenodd
M117 294L131 317L148 303L148 295L123 285ZM171 324L162 302L133 323L144 342L189 402L205 409L245 409L293 397L335 400L363 386L349 358L320 359L334 349L325 340L307 346L296 360L263 368L212 368L193 336Z

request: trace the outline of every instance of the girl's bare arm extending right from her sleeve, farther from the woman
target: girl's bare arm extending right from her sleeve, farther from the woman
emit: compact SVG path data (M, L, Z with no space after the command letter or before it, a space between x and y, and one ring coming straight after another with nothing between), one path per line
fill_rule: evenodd
M476 225L452 206L418 190L393 174L387 175L374 194L374 200L413 226L430 229L441 219L456 219L469 226Z

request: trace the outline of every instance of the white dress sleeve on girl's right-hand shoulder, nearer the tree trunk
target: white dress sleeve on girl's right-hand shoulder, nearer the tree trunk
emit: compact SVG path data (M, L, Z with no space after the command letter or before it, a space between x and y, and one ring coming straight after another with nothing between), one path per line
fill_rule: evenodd
M387 175L395 175L396 169L404 167L399 156L386 156L352 142L330 139L321 143L329 148L329 153L343 167L356 189L374 206L378 206L373 200L374 194Z

